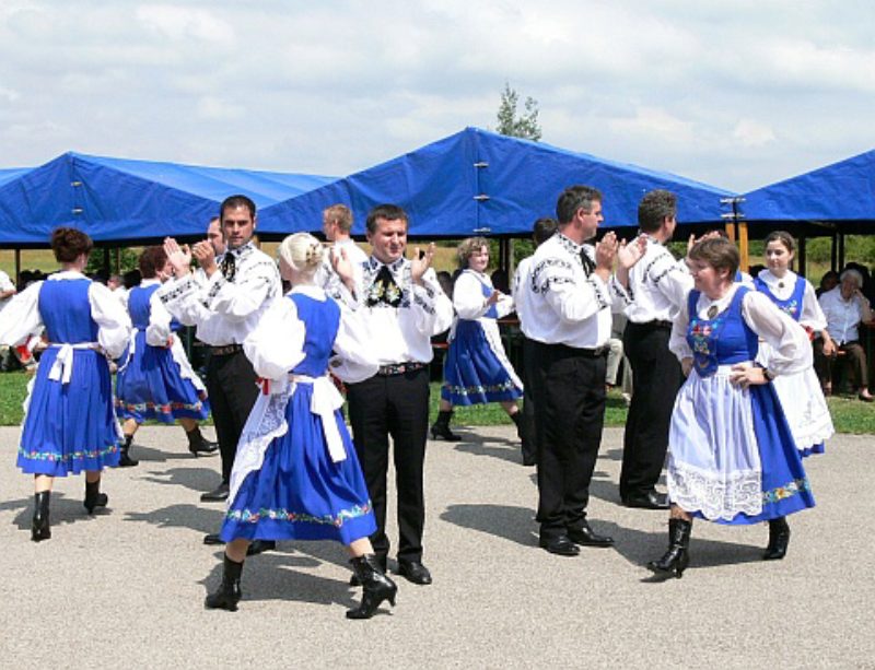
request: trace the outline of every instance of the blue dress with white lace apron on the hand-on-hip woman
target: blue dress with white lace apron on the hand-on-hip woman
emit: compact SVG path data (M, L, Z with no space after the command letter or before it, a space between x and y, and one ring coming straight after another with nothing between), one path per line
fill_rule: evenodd
M710 319L697 314L700 294L690 292L687 342L693 366L669 432L672 503L719 524L766 521L815 504L772 384L740 388L730 381L734 364L757 355L758 336L742 315L748 291L737 286L728 307ZM804 345L801 330L797 339Z

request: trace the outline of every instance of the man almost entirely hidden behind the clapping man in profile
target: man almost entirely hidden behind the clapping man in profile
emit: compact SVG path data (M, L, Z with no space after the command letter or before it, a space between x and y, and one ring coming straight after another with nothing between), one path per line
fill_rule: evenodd
M556 233L556 219L549 216L538 219L532 228L532 239L537 249ZM535 396L532 392L530 379L535 374L535 343L528 337L528 309L532 293L526 290L532 279L532 259L527 256L516 266L513 278L513 303L516 306L516 317L520 319L520 330L523 332L523 465L534 466L538 460L538 438L535 431Z

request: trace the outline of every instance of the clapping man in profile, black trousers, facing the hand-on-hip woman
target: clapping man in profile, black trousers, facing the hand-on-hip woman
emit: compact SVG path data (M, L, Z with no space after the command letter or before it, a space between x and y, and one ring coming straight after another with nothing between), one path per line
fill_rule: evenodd
M622 293L610 277L616 235L605 235L592 256L584 249L603 221L602 193L588 186L567 188L556 213L557 233L532 260L526 334L535 340L540 545L575 556L579 545L614 544L590 527L586 505L605 418L611 303ZM630 251L618 269L621 282L635 260Z

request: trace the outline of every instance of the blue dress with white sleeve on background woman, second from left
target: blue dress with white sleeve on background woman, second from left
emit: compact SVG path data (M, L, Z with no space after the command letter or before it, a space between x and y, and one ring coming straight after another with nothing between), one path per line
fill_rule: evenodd
M207 391L191 369L179 339L171 336L180 328L179 324L151 299L160 285L158 281L149 282L128 294L135 330L116 375L116 408L120 418L133 419L138 424L148 419L163 423L176 419L202 421L210 413ZM153 314L154 305L161 314ZM170 337L172 346L166 345Z

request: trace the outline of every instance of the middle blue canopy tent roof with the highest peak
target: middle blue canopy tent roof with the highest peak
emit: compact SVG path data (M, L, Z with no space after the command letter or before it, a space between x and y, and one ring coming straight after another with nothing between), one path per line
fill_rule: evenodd
M678 195L682 223L720 225L721 199L712 186L549 144L465 130L386 163L265 208L262 232L317 231L322 210L342 202L353 210L353 234L364 233L368 211L382 202L401 205L415 237L474 234L528 236L540 216L555 215L562 189L587 184L602 190L605 226L635 225L644 192Z

